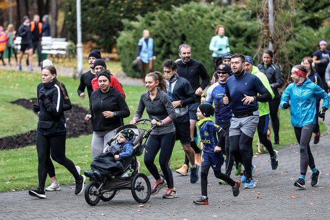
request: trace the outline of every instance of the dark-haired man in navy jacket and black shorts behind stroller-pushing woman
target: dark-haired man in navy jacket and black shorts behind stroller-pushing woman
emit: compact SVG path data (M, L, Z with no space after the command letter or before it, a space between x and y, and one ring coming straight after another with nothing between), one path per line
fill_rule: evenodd
M190 123L188 105L196 102L195 92L192 89L188 80L179 77L177 72L177 65L172 60L165 60L163 63L164 78L168 81L168 97L172 102L175 110L176 119L173 121L175 126L175 139L180 140L182 148L186 153L189 162L191 163L190 182L196 183L198 181L198 165L195 164L194 150L190 146ZM184 164L186 171L188 166ZM181 175L186 175L187 172L179 172Z

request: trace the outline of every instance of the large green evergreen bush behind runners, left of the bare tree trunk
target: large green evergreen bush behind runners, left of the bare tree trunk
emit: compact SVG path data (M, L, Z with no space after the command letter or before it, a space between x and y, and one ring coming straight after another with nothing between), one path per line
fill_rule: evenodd
M209 74L214 70L209 43L217 24L226 26L231 51L253 56L257 46L259 23L251 19L244 7L219 7L191 2L138 16L137 21L124 22L124 30L117 39L118 54L125 73L140 76L131 69L136 58L137 44L143 29L149 29L155 42L157 60L154 70L162 71L165 59L177 59L178 47L187 43L192 47L192 59L202 62Z

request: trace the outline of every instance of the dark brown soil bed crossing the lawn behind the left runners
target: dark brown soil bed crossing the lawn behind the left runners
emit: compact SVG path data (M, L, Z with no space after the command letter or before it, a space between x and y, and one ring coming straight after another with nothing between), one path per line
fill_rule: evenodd
M32 110L32 105L37 103L37 99L19 99L12 103L22 106L25 109ZM80 135L92 133L90 122L83 119L86 113L87 110L78 105L72 105L72 110L65 112L67 121L67 137L78 137ZM36 135L37 131L31 130L24 134L0 138L0 150L34 145Z

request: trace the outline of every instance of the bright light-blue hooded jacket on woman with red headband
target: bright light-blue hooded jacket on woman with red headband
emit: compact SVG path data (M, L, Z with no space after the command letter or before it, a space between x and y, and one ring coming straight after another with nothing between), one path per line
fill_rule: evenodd
M317 123L316 100L323 99L323 107L329 109L329 95L307 79L301 86L291 83L283 92L280 107L290 101L291 124L303 127Z

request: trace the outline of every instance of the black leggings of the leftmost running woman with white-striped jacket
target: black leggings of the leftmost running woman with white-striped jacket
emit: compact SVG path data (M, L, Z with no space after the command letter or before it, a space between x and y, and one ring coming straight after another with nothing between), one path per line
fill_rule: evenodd
M80 174L77 172L75 164L65 156L65 141L65 134L50 136L37 133L36 145L38 152L38 177L39 188L42 190L45 189L51 147L53 148L56 162L67 168L67 170L75 177L76 180L80 180L81 178Z

